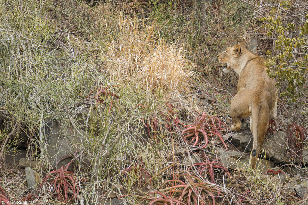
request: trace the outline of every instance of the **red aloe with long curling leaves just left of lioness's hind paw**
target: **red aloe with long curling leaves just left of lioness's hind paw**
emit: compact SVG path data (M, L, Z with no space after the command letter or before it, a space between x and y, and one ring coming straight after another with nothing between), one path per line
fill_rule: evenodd
M197 112L197 111L192 111ZM200 135L203 136L205 139L205 144L199 144L199 147L205 148L208 144L208 137L218 136L222 144L225 146L225 149L227 150L227 146L225 144L225 141L222 138L222 134L220 131L224 131L225 129L221 127L221 125L225 126L227 128L227 125L225 125L223 122L221 122L217 117L210 117L205 112L197 112L199 115L194 120L195 124L189 124L189 125L183 125L181 129L182 136L187 141L187 138L191 138L190 144L193 144L193 146L196 146L198 144L198 141L200 139Z

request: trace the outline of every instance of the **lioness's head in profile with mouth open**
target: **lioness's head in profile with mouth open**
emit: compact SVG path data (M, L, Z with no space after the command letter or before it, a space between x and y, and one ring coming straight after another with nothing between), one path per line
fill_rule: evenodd
M239 65L239 57L246 50L246 42L227 48L225 51L218 54L219 63L222 65L224 73L228 73L231 69L237 68Z

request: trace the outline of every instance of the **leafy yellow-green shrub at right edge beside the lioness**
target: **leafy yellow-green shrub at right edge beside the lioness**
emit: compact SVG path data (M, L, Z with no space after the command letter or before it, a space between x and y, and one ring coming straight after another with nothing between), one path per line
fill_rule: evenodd
M267 36L275 39L274 50L267 51L267 73L270 77L276 77L280 96L290 96L295 102L307 77L308 15L302 25L283 24L279 16L264 17L261 20L264 22L263 27L267 28Z

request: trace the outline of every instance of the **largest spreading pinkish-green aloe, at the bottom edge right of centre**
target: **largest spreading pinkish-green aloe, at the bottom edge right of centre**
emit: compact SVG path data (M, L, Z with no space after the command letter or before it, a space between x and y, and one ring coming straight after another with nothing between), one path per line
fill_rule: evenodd
M160 190L161 192L167 192L171 195L178 194L177 200L179 201L187 201L187 204L190 204L191 201L194 202L195 205L205 205L204 199L205 195L209 194L213 199L213 204L215 204L215 196L217 193L218 197L220 195L220 190L215 184L211 184L208 182L204 182L202 179L192 175L189 171L183 171L179 176L183 176L188 180L188 183L184 183L178 179L171 179L164 183L171 183L172 186L164 188Z

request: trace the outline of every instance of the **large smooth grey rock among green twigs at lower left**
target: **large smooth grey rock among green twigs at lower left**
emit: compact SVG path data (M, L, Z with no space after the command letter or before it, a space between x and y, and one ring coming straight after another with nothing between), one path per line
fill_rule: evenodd
M53 169L67 165L79 152L83 137L72 126L63 126L55 120L47 120L45 124L46 150L49 164ZM79 132L83 133L82 130ZM58 164L57 164L58 163ZM57 165L57 166L56 166ZM70 164L68 169L72 169Z

